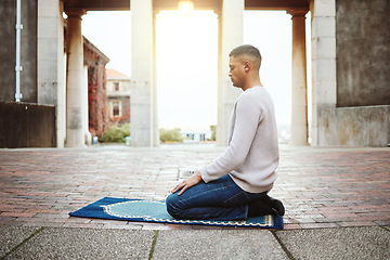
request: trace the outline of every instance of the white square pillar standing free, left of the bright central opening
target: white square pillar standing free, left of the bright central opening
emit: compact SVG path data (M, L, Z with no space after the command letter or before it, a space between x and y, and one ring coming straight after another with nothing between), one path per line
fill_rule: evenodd
M152 0L130 0L131 8L131 145L153 146L153 9Z

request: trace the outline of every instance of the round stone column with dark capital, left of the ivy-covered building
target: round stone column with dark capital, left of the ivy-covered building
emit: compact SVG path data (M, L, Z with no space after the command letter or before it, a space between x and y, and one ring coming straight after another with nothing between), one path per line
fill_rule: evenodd
M82 10L67 11L67 88L66 88L66 146L84 146L84 113L88 110L88 91L83 70L81 35Z

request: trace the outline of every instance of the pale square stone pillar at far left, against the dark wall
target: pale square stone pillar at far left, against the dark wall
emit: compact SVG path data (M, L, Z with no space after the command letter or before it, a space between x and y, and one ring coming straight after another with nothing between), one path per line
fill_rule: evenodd
M63 1L38 0L38 104L55 105L56 145L65 140L65 55Z

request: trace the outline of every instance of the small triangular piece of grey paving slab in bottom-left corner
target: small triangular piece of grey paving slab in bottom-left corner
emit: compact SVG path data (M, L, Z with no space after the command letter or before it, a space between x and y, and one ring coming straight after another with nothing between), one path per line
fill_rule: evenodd
M0 258L32 235L39 227L0 225Z

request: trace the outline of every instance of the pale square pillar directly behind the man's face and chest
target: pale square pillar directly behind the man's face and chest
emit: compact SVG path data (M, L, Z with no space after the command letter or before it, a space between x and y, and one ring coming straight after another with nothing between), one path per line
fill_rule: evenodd
M218 122L217 144L227 145L229 119L242 93L229 78L229 53L243 44L244 0L223 0L219 17Z

